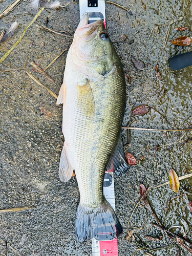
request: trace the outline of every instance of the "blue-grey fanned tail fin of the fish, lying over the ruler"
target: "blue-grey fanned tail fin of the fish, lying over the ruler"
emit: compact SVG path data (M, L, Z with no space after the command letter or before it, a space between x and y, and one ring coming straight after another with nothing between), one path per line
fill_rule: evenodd
M80 242L95 238L113 240L122 233L122 227L112 208L104 198L100 207L79 204L76 214L76 237Z

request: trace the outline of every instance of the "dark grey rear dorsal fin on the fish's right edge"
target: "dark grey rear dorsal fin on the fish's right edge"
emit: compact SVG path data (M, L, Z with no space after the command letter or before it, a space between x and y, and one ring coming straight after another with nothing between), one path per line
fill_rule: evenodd
M124 151L123 151L123 144L121 137L119 138L117 147L106 166L106 170L109 174L112 175L112 172L114 172L115 176L118 176L119 174L125 173L125 171L129 168L129 165L127 164Z

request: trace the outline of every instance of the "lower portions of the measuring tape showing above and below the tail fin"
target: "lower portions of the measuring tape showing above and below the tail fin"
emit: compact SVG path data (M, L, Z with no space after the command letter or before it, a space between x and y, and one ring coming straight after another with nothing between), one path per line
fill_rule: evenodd
M103 194L115 211L114 178L106 171L104 175ZM93 256L118 256L117 239L98 241L92 238Z

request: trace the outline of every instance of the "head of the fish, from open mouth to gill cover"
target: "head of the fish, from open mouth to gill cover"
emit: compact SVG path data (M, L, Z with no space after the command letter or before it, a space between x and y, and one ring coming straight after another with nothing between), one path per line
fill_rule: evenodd
M81 73L103 79L114 70L116 52L103 21L88 22L89 14L85 13L74 35L71 59Z

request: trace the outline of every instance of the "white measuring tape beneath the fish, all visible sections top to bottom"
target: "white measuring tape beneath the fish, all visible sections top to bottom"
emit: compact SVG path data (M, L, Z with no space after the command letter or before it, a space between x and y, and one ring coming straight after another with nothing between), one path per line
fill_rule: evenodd
M89 23L102 19L106 28L105 3L104 0L79 0L80 19L85 12L89 12ZM115 211L114 178L106 171L104 176L103 194ZM92 239L93 256L118 256L117 239L96 240Z

